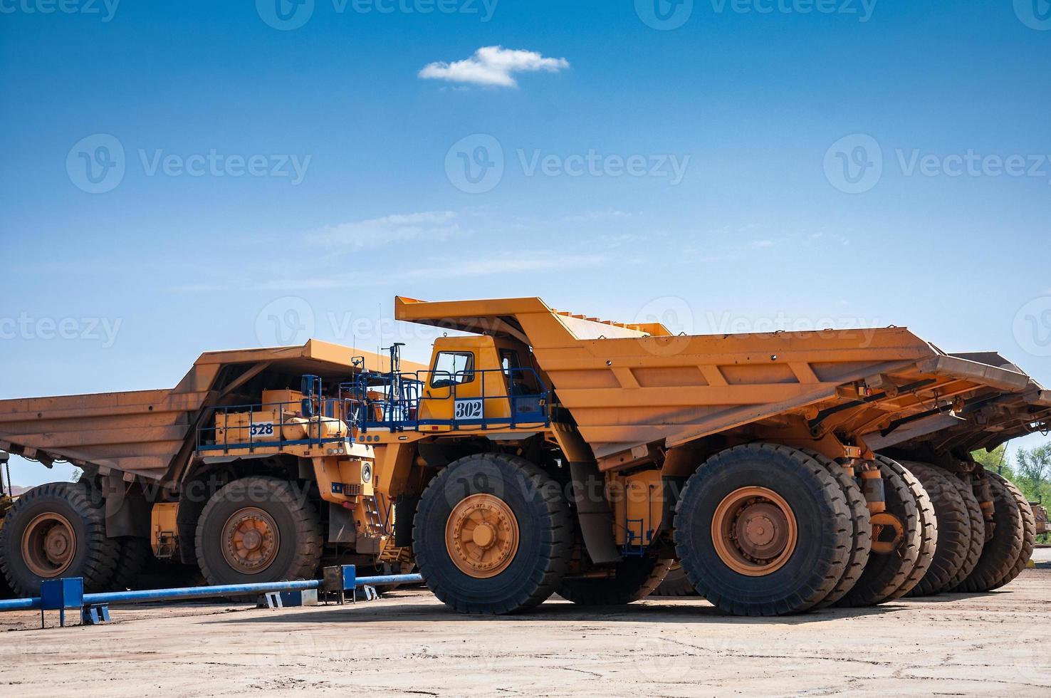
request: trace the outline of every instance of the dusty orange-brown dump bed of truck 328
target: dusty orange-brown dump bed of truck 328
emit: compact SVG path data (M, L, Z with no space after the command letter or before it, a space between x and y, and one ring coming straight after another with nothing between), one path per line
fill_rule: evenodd
M389 370L387 357L311 340L203 353L171 389L0 401L0 450L174 481L213 408L257 403L261 387L296 385L303 374L346 379L363 368L353 356L364 357L364 368Z

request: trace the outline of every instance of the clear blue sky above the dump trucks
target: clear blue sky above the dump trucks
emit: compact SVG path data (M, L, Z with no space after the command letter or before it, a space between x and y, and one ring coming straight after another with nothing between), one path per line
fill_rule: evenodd
M394 294L908 325L1051 384L1047 0L277 1L0 0L0 397L282 328L424 358Z

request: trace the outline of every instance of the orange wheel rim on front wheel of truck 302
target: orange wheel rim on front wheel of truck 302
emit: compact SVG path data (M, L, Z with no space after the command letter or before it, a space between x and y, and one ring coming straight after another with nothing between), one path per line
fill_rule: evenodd
M463 574L494 577L508 569L518 552L518 519L502 499L473 494L449 514L446 548Z

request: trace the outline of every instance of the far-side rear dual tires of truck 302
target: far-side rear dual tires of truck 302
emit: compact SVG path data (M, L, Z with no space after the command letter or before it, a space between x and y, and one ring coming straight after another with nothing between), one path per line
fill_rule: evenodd
M901 469L878 458L886 496L886 512L898 517L904 529L898 547L889 553L872 551L854 586L836 603L840 607L875 605L889 600L915 569L923 531L915 495ZM873 541L875 545L878 541Z

